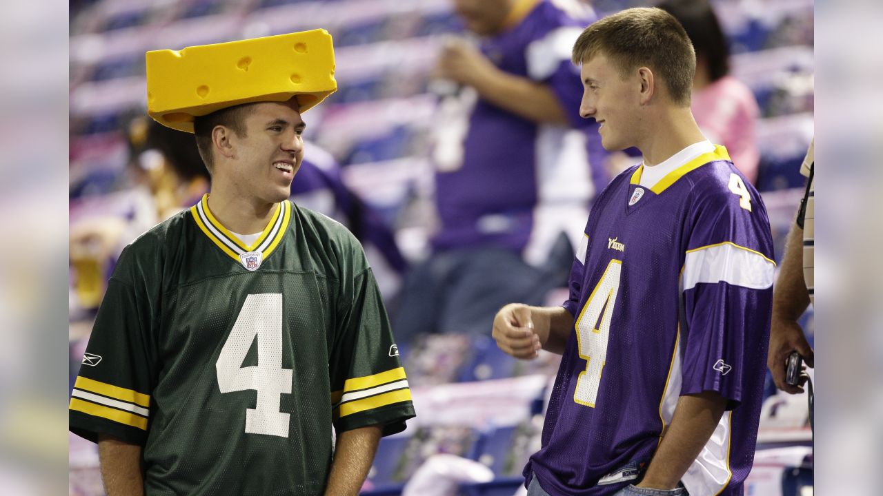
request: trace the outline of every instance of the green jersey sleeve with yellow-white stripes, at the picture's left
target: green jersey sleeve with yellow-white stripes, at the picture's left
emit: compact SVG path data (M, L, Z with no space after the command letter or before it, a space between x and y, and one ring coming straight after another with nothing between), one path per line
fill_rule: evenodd
M98 434L140 445L147 440L153 389L147 335L152 318L144 285L133 284L129 277L130 248L108 282L71 392L70 430L93 442Z

